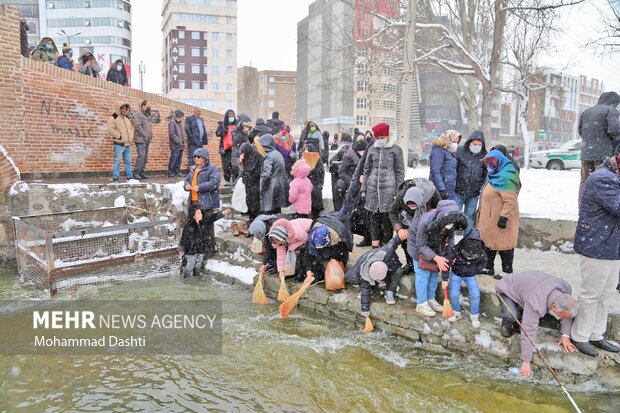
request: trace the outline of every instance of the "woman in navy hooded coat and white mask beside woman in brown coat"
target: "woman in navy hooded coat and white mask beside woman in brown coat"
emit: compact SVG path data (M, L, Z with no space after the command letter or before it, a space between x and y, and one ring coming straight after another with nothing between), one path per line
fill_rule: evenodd
M487 178L487 168L480 162L487 154L484 147L484 134L474 131L465 144L456 151L456 195L454 200L459 208L465 207L467 228L463 236L467 236L474 226L478 197L482 185Z

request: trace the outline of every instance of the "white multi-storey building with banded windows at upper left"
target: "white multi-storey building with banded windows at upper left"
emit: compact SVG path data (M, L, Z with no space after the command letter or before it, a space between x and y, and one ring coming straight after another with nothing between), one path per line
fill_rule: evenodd
M89 50L101 65L103 79L120 59L131 80L130 1L38 0L38 4L39 38L51 37L59 49L70 44L74 60Z

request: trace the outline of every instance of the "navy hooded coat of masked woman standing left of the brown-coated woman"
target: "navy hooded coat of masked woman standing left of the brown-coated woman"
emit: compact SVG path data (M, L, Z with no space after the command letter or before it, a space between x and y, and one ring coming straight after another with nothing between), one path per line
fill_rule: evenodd
M474 154L469 150L471 141L482 141L482 150ZM487 177L487 168L480 162L487 154L484 144L484 135L475 131L465 141L463 146L456 150L456 193L463 198L472 198L480 195L482 186Z

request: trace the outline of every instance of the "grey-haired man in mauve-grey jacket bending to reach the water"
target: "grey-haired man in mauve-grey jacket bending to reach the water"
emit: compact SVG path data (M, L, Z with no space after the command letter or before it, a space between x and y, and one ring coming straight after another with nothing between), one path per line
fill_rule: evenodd
M577 301L571 296L572 289L567 281L542 271L527 271L505 276L495 284L495 291L503 300L502 324L499 329L503 337L507 338L515 333L512 312L521 318L523 328L532 341L536 342L538 323L549 313L561 320L562 336L556 344L561 345L564 351L576 350L570 341L570 330L573 318L577 315ZM521 334L523 364L520 374L523 377L529 377L531 373L530 362L533 353L534 347L525 334Z

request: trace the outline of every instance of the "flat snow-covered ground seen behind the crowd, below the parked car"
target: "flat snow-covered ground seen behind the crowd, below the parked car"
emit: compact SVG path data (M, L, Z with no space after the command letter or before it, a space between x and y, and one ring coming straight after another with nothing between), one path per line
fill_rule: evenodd
M429 168L409 168L406 179L428 178ZM548 171L521 170L522 188L519 193L521 216L576 221L580 175L578 169ZM325 174L323 198L332 199L331 175Z

